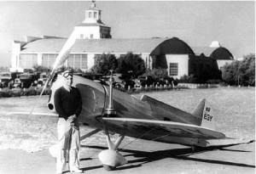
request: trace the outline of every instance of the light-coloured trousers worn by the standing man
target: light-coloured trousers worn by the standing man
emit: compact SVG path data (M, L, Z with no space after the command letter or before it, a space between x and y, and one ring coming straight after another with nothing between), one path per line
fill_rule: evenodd
M80 132L79 119L71 126L64 118L60 118L57 126L58 140L56 170L64 171L67 160L69 169L79 168Z

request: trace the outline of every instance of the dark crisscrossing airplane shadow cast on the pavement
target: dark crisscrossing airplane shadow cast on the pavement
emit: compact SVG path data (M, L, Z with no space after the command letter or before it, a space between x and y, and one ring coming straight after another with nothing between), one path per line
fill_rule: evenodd
M183 148L183 149L166 149L166 150L158 150L154 152L146 152L141 150L131 150L131 149L119 149L120 152L125 153L125 157L132 156L136 160L128 160L128 164L125 166L119 166L116 171L131 169L143 166L144 164L154 162L156 160L163 160L166 158L172 158L177 160L193 160L197 162L204 162L209 164L218 164L218 165L226 165L226 166L241 166L248 168L255 168L253 165L247 165L242 163L224 161L224 160L207 160L207 159L199 159L195 157L191 157L192 154L201 154L211 150L224 150L224 151L235 151L241 153L250 153L252 151L247 150L237 150L237 149L225 149L230 147L231 145L221 146L221 147L207 147L200 149L191 149L191 148ZM84 148L90 149L108 149L106 147L101 146L84 146ZM80 160L90 160L90 158L80 159ZM137 164L139 163L139 164ZM135 165L137 164L137 165ZM93 170L97 168L102 168L102 166L91 166L84 168L83 170Z

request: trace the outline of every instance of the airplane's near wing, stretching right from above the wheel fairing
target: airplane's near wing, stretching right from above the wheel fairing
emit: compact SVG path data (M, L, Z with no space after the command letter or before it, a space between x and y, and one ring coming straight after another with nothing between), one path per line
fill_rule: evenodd
M131 137L139 137L145 134L146 137L168 138L225 138L221 132L216 132L202 126L194 126L173 121L154 121L143 119L129 119L129 118L103 118L110 126L116 126L123 130L133 130L130 132ZM137 136L135 135L137 134ZM147 135L146 135L147 134ZM164 140L162 140L164 141ZM165 141L164 141L165 142Z

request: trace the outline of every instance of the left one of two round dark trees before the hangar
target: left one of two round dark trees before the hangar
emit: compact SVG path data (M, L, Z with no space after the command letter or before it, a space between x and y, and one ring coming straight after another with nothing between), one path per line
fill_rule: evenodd
M118 61L113 54L103 53L100 57L96 57L96 64L91 68L91 71L96 74L108 74L109 70L115 70L118 66Z

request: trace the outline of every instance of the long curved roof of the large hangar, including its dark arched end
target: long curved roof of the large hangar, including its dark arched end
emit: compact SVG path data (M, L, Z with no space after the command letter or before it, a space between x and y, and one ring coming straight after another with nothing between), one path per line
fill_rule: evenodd
M60 52L67 39L47 38L28 42L22 53ZM141 39L77 39L71 53L149 53L195 54L189 46L176 37Z

